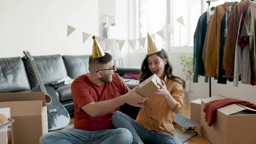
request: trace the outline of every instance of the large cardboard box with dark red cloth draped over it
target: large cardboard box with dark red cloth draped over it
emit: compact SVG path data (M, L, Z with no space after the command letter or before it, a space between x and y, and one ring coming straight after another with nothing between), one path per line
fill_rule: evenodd
M255 144L256 143L256 111L237 104L219 108L213 125L205 122L202 111L207 102L226 97L216 95L202 99L201 102L201 134L212 144ZM250 109L250 110L249 110Z

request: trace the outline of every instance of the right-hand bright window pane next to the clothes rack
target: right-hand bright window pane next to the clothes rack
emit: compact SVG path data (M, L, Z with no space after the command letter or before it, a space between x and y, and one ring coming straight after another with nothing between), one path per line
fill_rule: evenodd
M170 43L170 46L193 46L193 35L200 15L201 0L173 0L174 32L171 36L173 43Z

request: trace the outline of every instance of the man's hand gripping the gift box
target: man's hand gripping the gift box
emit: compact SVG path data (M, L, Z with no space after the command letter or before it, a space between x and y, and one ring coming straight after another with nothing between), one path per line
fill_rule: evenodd
M136 93L137 89L140 88L139 86L133 88L131 91L129 91L127 94L125 94L125 102L128 104L132 103L142 103L148 98L144 98L141 95L138 95Z

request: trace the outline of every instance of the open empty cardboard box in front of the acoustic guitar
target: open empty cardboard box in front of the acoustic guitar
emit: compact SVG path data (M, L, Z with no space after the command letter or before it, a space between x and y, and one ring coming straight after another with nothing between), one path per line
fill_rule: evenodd
M10 107L12 144L38 144L48 132L47 107L43 92L0 93L0 108Z

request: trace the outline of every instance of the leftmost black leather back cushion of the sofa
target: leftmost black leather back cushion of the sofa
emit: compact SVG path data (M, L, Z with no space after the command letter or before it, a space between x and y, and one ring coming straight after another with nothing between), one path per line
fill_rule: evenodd
M21 57L0 58L0 92L30 91Z

